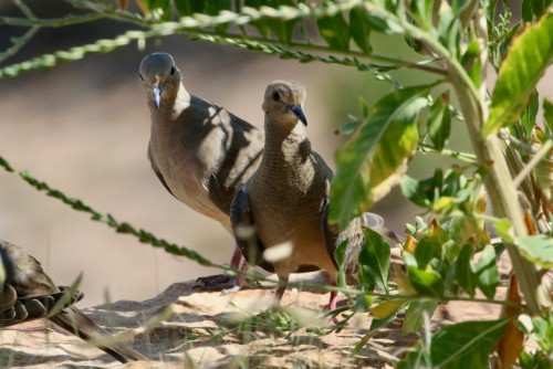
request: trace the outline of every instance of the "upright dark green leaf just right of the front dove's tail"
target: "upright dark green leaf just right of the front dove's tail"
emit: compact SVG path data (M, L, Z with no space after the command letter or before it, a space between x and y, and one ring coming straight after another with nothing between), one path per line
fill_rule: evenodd
M365 243L359 253L359 282L388 292L389 245L377 232L364 229Z

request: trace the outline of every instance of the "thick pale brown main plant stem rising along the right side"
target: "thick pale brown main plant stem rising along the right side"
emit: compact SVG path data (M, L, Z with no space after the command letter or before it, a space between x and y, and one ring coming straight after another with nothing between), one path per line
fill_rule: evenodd
M493 214L498 218L509 219L512 224L514 238L528 235L522 211L519 201L517 201L517 190L509 173L500 141L497 136L482 138L482 127L488 118L486 83L482 83L480 89L478 89L467 74L467 71L465 71L462 65L451 55L449 50L429 33L374 4L366 3L365 8L377 17L399 23L411 36L424 41L430 50L444 57L449 73L449 81L459 99L459 105L469 129L474 152L480 164L488 169L486 188L491 200ZM486 81L486 68L488 66L488 33L483 11L478 10L474 14L474 19L479 33L480 62L482 65L480 81ZM505 247L511 257L514 273L519 278L519 284L526 301L529 312L531 315L539 315L540 305L536 298L539 278L535 265L522 257L514 244L505 242Z

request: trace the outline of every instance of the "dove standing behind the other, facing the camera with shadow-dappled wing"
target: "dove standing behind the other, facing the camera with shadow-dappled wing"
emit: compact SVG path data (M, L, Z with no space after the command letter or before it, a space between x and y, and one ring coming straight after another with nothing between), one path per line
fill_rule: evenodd
M175 198L232 232L230 204L260 164L263 133L190 95L169 54L147 55L139 77L152 116L148 158L154 172ZM241 256L236 247L230 266L239 268ZM247 267L243 263L242 270ZM202 280L211 289L218 287L218 280Z

